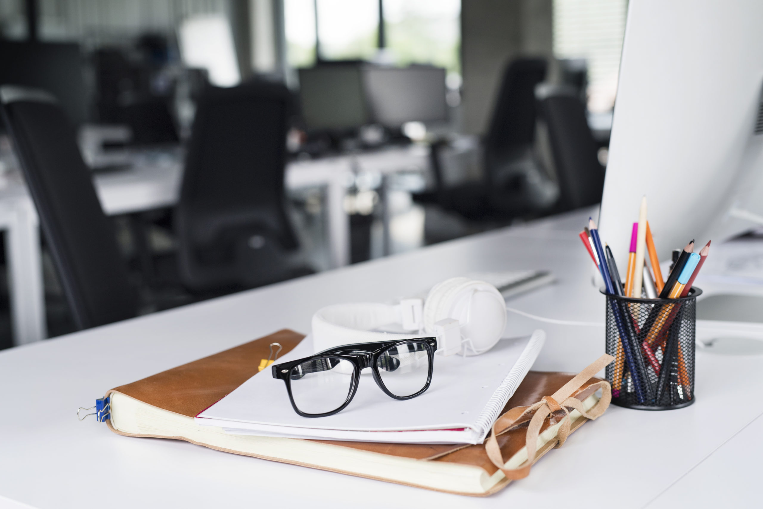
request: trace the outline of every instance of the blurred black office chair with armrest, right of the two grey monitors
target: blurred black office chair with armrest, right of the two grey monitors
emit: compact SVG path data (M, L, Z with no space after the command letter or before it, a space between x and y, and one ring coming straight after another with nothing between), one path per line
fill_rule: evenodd
M446 188L440 152L434 143L430 157L435 176L433 192L414 195L421 203L436 203L470 220L507 220L552 205L545 173L533 157L536 130L536 85L546 78L546 60L520 58L504 70L488 133L483 139L483 177ZM549 201L550 200L550 201Z

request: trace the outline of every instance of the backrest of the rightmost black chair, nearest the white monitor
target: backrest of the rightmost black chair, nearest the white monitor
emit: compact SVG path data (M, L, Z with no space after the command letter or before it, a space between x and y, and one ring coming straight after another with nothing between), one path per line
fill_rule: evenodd
M540 98L559 181L559 211L600 203L604 168L575 91L550 90Z

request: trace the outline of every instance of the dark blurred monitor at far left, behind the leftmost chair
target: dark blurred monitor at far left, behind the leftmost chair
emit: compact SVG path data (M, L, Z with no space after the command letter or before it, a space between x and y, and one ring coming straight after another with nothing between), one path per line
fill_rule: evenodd
M24 85L53 94L80 124L86 118L79 44L0 42L0 85Z

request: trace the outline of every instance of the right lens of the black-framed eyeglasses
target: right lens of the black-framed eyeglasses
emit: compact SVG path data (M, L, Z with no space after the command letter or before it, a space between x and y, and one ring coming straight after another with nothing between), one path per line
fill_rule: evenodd
M427 385L430 358L423 343L412 341L385 350L376 366L387 390L404 397L416 394Z

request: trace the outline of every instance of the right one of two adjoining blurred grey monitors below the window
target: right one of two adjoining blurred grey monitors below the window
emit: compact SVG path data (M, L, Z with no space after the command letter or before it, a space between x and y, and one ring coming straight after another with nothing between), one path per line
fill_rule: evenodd
M368 66L363 80L372 118L386 127L447 121L445 69Z

